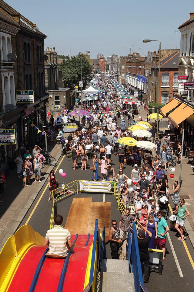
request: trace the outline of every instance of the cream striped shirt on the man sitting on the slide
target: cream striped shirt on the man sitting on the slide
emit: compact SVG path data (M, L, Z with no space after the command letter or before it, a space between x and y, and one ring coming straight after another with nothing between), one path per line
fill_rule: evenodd
M61 225L54 225L47 231L45 238L49 240L49 254L65 255L67 253L66 243L71 239L69 230L64 229Z

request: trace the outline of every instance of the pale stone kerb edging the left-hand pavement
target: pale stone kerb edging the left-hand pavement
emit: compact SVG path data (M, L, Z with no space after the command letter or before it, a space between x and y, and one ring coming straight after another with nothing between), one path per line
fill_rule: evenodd
M60 160L61 157L62 157L62 155L60 155L59 158L58 158L58 160L56 161L55 167L57 166L57 164L58 164L58 162L59 162L59 160ZM52 166L49 166L48 169L46 170L46 172L49 173L51 169L53 169L53 167ZM13 235L15 233L15 231L17 231L17 229L20 226L21 222L23 221L24 217L28 213L29 209L32 207L32 204L34 203L35 199L37 198L37 196L41 192L41 189L45 186L45 184L47 184L48 177L49 177L49 174L45 176L43 185L40 185L40 186L37 185L37 187L33 191L32 195L29 197L28 202L22 208L22 210L19 213L18 217L15 219L15 222L12 224L12 226L9 228L9 231L6 233L6 235L2 239L2 241L0 243L0 251L1 251L2 247L4 246L5 242L7 241L7 239L11 235ZM36 192L36 190L37 190L37 192Z

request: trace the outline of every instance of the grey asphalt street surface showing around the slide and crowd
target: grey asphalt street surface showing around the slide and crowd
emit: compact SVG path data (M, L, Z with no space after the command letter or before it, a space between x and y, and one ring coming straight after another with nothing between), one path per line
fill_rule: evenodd
M113 165L115 168L115 173L118 171L118 158L115 155L113 156ZM92 165L92 160L88 160L88 165ZM62 160L62 163L59 168L62 168L66 173L67 176L64 180L65 183L71 182L75 179L91 179L92 178L92 171L81 171L81 169L78 169L74 171L72 169L72 159L70 158L64 158ZM128 176L130 176L132 167L127 165L126 169L124 169L124 173ZM100 172L100 168L99 168ZM62 178L59 175L59 172L57 170L56 176L59 182L62 182ZM42 188L42 192L45 189L45 185ZM42 192L40 192L40 195L35 200L32 208L29 210L29 212L26 214L24 220L21 224L25 224L26 220L28 219L30 213L32 212L33 208L35 207L35 204L37 203L39 197L41 196ZM103 194L99 193L86 193L86 194L78 194L75 195L76 197L92 197L92 201L102 201L103 200ZM36 207L31 219L29 220L28 224L30 224L36 231L38 231L40 234L45 236L47 229L49 229L49 221L50 221L50 215L51 215L51 209L52 209L52 201L48 202L49 197L49 188L46 188L46 191L44 195L42 196L42 199L40 200L38 206ZM68 198L67 200L63 201L63 203L59 205L58 212L59 214L62 214L64 217L64 224L66 221L66 218L69 213L69 208L71 206L73 200L73 196ZM111 219L114 217L114 219L119 222L120 218L120 212L117 210L117 204L115 197L110 194L105 195L105 202L111 202ZM82 210L80 210L81 212ZM79 218L79 216L78 216ZM169 222L168 222L169 223ZM76 222L75 222L76 224ZM162 275L159 275L158 273L151 273L150 276L150 282L146 284L146 287L150 292L155 292L156 290L159 291L176 291L178 289L183 289L184 291L193 291L194 290L194 270L191 266L191 263L189 261L189 257L186 253L186 249L188 249L192 259L194 259L194 250L192 248L191 243L189 242L189 238L186 237L185 245L183 245L182 242L177 240L176 232L169 231L169 237L172 242L172 246L170 246L169 240L167 239L167 252L166 252L166 260L164 261L164 267L163 267L163 273ZM172 251L173 250L173 251ZM107 251L107 258L111 258L110 255L110 247L109 244L106 245L106 251ZM175 259L173 252L175 253L175 256L177 257ZM177 265L179 268L177 268ZM181 276L180 276L181 275ZM183 277L182 277L183 276Z

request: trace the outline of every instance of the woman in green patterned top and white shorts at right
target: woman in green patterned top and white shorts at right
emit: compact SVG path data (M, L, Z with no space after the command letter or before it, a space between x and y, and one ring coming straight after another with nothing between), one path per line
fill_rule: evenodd
M185 224L185 218L190 215L189 211L187 210L187 207L185 206L185 200L180 198L179 201L180 205L178 208L178 215L176 219L175 229L179 232L180 237L178 240L185 240L185 236L183 235L183 226ZM175 213L175 211L173 211Z

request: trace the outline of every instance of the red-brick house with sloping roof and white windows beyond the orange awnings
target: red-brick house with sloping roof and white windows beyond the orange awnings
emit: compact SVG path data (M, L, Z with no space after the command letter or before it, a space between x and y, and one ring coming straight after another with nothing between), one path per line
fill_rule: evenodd
M166 104L172 100L173 97L175 97L175 92L178 90L178 61L179 50L176 50L175 53L170 54L160 63L159 103L161 104ZM157 102L158 96L158 73L158 65L152 66L150 76L150 100L154 103Z

